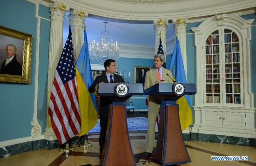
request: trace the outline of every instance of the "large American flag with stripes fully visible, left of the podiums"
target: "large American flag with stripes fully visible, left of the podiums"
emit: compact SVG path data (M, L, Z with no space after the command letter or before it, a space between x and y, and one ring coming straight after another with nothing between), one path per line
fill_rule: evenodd
M48 113L60 145L81 132L81 113L78 105L70 26L67 41L55 71Z

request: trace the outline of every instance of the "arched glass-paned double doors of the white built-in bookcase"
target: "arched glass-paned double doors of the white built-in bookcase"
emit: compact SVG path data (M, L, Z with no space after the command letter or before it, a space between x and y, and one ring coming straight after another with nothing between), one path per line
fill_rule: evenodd
M205 41L205 101L208 106L241 104L239 39L229 29L218 29Z

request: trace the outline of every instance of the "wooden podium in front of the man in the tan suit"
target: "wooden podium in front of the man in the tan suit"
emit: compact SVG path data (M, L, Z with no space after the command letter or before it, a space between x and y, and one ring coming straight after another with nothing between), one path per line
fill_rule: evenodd
M183 84L184 94L195 94L195 84ZM149 87L144 94L154 95L162 100L160 105L160 124L156 147L152 155L162 166L191 162L187 151L179 118L176 100L180 97L172 92L172 83L160 83Z

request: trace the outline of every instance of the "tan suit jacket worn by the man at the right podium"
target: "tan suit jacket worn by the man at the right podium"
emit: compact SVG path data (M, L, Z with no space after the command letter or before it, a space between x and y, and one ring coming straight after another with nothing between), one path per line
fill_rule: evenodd
M164 80L164 81L162 81L162 83L173 83L173 81L167 74L170 77L173 77L171 71L162 67L162 80ZM157 84L158 83L157 81L158 81L158 79L157 79L156 69L153 68L152 70L150 70L146 73L144 89L147 89L150 86ZM161 100L157 99L153 95L148 96L148 109L157 110L160 107L160 104L161 104Z

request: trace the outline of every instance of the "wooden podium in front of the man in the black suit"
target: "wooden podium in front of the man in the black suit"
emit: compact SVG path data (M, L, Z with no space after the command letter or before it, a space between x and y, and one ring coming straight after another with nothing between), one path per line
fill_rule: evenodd
M130 144L125 101L133 95L143 95L142 84L126 84L129 93L118 97L115 92L116 84L98 84L97 93L108 96L112 101L108 111L108 128L105 144L101 155L101 166L136 166Z

